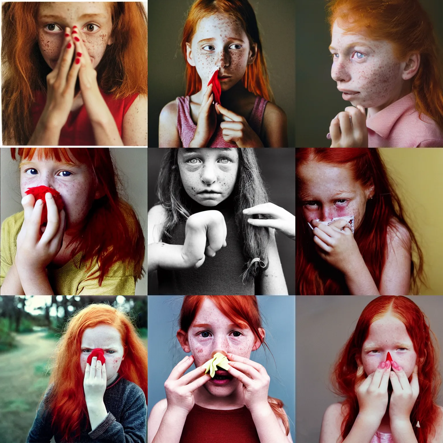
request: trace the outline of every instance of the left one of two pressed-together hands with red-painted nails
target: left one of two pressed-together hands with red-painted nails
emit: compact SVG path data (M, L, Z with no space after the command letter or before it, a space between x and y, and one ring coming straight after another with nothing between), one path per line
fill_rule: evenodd
M79 66L75 63L70 67L74 51L74 41L71 38L70 28L67 27L57 64L46 76L47 98L40 120L50 127L61 129L71 112L79 70Z

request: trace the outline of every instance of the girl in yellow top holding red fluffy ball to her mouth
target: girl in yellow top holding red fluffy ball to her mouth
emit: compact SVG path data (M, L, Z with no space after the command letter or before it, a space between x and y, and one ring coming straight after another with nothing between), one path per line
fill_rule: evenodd
M16 148L11 148L16 159ZM1 294L134 295L144 268L144 236L132 207L120 198L109 148L19 148L24 213L1 226ZM58 214L28 188L59 192ZM65 225L66 222L66 225Z

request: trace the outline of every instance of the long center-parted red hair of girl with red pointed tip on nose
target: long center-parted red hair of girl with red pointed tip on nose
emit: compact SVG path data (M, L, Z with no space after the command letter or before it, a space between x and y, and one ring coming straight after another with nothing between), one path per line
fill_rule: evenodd
M418 443L427 443L427 437L431 434L431 428L439 416L439 407L436 404L441 384L437 369L438 346L434 347L431 341L431 333L434 338L435 334L429 328L426 315L411 299L402 295L381 295L365 307L354 333L340 351L334 365L331 376L334 393L345 397L342 412L346 412L346 415L342 422L342 437L345 439L350 433L358 415L355 385L368 376L365 373L358 376L357 358L361 358L361 349L368 337L369 326L386 314L391 314L404 323L417 354L420 393L412 408L410 420ZM420 427L416 427L417 421L420 421Z

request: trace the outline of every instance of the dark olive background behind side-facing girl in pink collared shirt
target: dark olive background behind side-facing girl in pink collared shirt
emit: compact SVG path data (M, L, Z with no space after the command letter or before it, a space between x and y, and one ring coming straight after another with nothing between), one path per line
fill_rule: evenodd
M429 14L443 47L443 1L420 0ZM326 23L326 0L296 0L296 101L297 148L329 147L326 139L331 120L346 106L332 80L332 59L328 47L330 33ZM291 145L290 145L291 146Z

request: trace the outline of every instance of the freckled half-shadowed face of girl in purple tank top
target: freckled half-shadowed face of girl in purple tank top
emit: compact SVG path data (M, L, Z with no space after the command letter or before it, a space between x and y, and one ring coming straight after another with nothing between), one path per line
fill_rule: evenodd
M214 14L204 17L198 23L192 43L187 45L187 60L195 66L206 89L215 66L220 66L218 75L229 75L221 80L221 90L232 88L246 72L246 66L253 63L256 54L249 46L245 30L232 17Z

